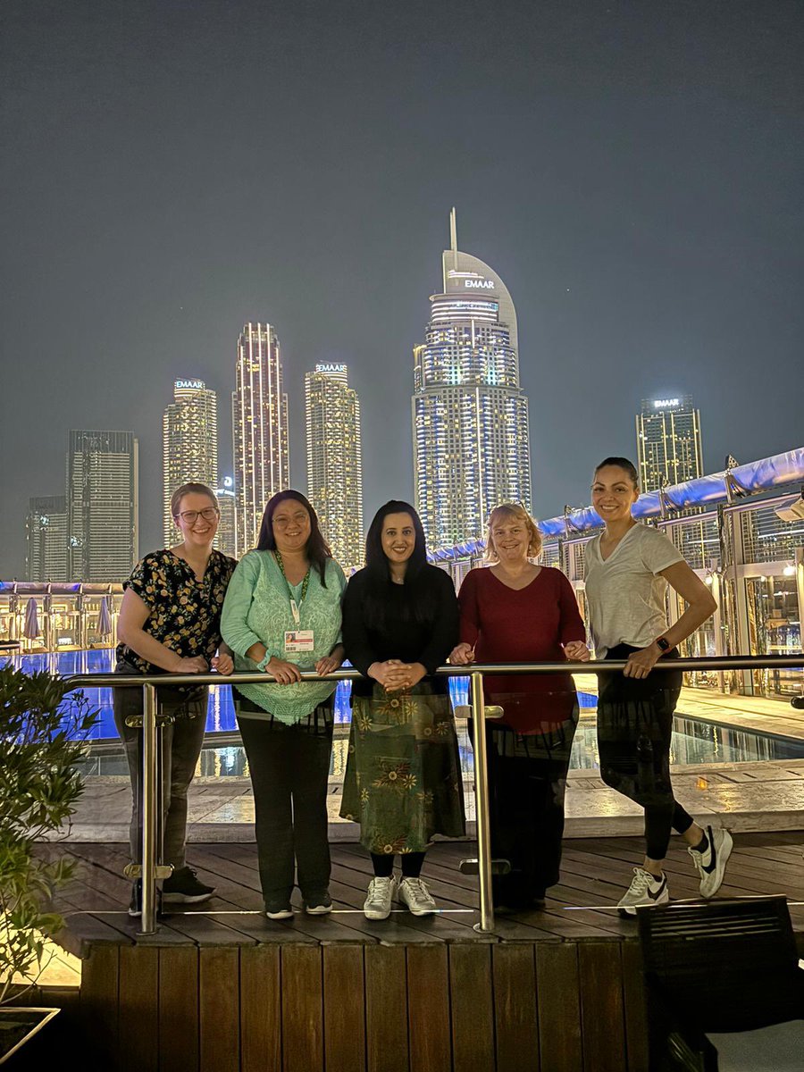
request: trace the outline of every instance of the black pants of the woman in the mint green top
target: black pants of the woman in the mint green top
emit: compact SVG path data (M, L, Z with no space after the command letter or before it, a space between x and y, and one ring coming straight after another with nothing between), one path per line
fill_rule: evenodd
M332 755L332 709L322 704L287 726L270 715L250 718L239 698L237 725L254 789L254 834L266 905L284 904L294 887L294 862L306 900L329 884L327 779ZM258 709L257 709L258 710Z

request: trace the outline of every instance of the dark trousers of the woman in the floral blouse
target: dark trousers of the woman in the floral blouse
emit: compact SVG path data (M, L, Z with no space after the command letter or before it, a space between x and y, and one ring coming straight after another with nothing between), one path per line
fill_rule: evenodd
M128 668L126 673L136 673ZM162 765L162 863L176 870L185 865L187 796L204 744L209 689L193 689L188 697L177 688L159 688L159 713L173 715L174 721L157 730L157 746L161 748ZM125 719L143 715L142 688L113 689L115 726L125 745L125 759L132 789L132 812L129 824L131 859L139 863L143 855L143 730L125 725Z

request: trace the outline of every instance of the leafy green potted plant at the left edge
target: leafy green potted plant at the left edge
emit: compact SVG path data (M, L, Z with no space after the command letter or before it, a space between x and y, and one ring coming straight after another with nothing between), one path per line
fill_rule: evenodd
M69 691L46 671L0 667L0 1066L58 1012L16 1002L19 980L25 993L39 978L44 936L64 925L50 902L75 866L36 848L66 833L84 789L75 764L98 713L83 693L65 703Z

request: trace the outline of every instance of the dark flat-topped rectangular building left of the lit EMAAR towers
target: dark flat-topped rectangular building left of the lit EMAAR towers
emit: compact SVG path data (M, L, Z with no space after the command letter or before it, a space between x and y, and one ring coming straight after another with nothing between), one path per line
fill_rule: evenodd
M138 559L138 443L132 432L68 440L68 579L122 581Z

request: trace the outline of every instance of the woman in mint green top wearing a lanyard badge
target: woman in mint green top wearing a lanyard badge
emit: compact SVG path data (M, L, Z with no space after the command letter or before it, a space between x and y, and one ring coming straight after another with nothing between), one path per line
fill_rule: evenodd
M343 661L341 599L346 581L298 491L280 491L263 515L257 547L235 570L221 632L238 671L263 670L265 685L235 689L237 724L254 788L254 832L265 911L291 919L294 862L304 909L331 911L327 779L334 682L307 682Z

